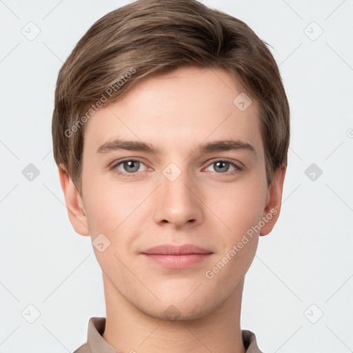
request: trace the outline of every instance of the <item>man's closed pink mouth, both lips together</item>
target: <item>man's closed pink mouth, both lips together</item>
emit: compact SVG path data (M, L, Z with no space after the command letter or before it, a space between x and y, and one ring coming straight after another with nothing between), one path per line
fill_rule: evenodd
M141 252L148 260L165 268L188 268L208 259L213 252L192 244L158 245Z

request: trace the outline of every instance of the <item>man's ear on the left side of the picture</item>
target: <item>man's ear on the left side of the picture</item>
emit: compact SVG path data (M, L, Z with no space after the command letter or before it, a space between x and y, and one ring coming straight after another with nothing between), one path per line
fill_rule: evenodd
M58 166L59 179L65 196L68 216L74 230L84 236L90 235L83 201L63 165Z

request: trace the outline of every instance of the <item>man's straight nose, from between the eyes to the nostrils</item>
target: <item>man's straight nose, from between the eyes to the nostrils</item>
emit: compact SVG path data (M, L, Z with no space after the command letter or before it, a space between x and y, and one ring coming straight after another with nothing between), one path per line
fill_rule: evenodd
M191 227L203 221L201 194L196 180L188 174L174 179L168 171L161 174L160 186L154 193L154 221L160 225L169 224L175 229ZM179 174L180 172L178 172Z

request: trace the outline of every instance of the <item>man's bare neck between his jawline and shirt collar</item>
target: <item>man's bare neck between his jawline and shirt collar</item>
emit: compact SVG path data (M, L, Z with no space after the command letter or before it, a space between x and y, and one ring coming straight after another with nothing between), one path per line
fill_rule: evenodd
M214 311L194 320L168 321L127 301L103 274L107 319L103 339L123 353L245 353L240 313L244 280Z

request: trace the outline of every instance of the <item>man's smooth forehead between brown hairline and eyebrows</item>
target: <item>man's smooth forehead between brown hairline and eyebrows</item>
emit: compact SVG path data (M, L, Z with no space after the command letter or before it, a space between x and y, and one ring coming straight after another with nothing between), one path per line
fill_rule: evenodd
M180 68L148 77L95 112L85 126L84 153L97 152L112 139L185 153L203 141L237 139L259 150L258 103L243 92L232 74L219 68Z

